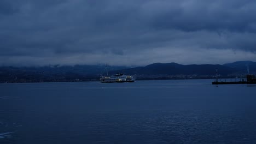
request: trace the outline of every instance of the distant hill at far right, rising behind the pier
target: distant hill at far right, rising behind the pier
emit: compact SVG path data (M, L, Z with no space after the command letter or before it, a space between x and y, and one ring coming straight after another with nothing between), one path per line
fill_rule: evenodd
M240 71L241 73L246 73L246 74L256 73L256 62L252 62L252 61L238 61L234 63L226 63L223 65L230 68L235 68L237 69L237 71Z

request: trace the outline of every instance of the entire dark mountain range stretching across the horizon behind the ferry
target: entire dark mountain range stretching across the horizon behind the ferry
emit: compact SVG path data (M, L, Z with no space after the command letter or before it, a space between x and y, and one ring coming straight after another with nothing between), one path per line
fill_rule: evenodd
M44 67L0 67L0 82L96 81L106 75L105 65L50 65ZM107 67L108 74L125 73L138 79L200 79L218 74L222 77L256 74L256 62L238 61L227 64L154 63L145 67ZM104 73L105 72L105 73Z

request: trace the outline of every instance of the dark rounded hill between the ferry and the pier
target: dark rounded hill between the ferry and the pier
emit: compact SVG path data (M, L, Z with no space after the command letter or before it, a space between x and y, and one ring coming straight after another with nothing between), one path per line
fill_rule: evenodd
M229 75L240 72L235 68L219 64L182 65L177 63L154 63L147 65L146 67L136 67L119 71L121 73L133 75L215 75L216 69L218 69L221 75ZM111 72L115 73L117 71Z

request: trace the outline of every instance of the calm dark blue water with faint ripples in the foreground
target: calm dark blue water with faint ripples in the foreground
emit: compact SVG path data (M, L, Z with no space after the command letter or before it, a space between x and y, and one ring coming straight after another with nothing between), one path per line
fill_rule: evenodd
M0 143L256 143L255 85L0 85Z

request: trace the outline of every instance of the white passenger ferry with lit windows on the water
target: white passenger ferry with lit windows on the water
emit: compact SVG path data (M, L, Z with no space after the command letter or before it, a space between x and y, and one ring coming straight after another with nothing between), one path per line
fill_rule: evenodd
M124 75L117 73L113 76L102 76L100 82L112 83L112 82L135 82L135 77L132 75Z

